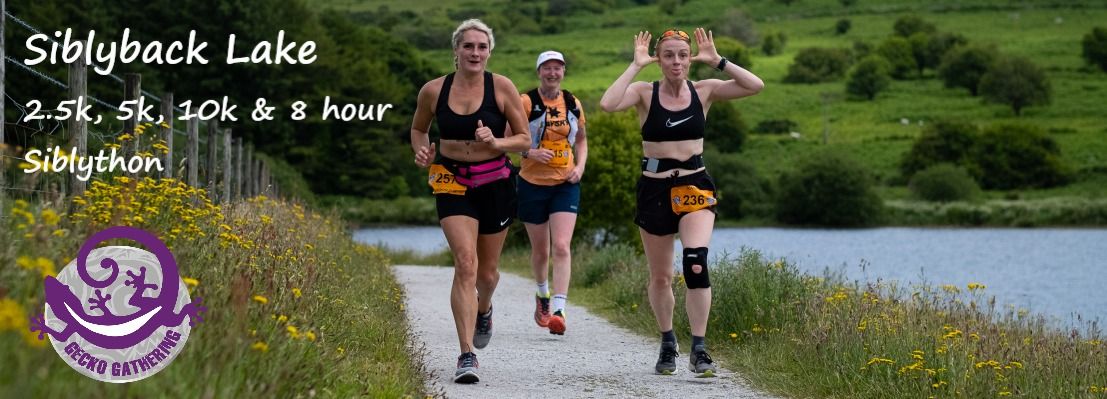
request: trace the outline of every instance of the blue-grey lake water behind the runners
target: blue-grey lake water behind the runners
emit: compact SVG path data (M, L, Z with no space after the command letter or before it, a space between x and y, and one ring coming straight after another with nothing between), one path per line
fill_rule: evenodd
M371 228L354 239L430 253L446 248L437 227ZM1107 229L1075 228L718 228L713 256L742 247L851 280L987 286L996 301L1057 318L1107 320ZM680 254L677 245L676 254ZM861 265L865 265L861 267Z

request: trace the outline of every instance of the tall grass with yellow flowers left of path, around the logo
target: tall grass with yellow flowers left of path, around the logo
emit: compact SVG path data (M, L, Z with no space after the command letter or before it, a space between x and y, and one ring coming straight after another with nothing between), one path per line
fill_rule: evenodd
M387 258L332 217L265 196L216 206L176 181L126 177L93 183L69 213L2 203L0 397L424 395ZM168 368L127 385L80 376L27 328L43 276L111 225L158 235L208 309Z

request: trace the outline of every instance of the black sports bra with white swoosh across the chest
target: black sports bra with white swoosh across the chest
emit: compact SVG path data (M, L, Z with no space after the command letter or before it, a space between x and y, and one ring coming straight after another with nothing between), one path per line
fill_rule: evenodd
M681 111L669 111L661 106L658 94L658 82L653 82L653 96L650 100L650 114L642 124L642 140L648 142L666 142L703 139L703 129L707 119L703 116L703 104L691 81L685 81L692 91L692 103Z

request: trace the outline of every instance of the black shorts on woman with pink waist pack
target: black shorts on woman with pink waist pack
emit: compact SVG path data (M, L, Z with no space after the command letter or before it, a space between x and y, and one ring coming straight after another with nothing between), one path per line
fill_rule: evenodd
M477 219L479 234L503 232L515 221L515 180L504 178L465 191L465 195L435 194L438 221L464 215Z

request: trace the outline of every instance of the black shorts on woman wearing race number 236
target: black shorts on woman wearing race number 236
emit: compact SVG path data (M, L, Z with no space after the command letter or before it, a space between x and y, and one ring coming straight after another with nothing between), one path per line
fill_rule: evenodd
M670 191L683 185L715 191L715 180L707 174L707 171L677 177L639 177L638 209L634 213L634 224L653 235L676 234L680 229L681 217L684 217L685 214L673 212ZM706 209L715 212L715 206L711 205Z

